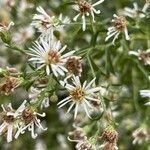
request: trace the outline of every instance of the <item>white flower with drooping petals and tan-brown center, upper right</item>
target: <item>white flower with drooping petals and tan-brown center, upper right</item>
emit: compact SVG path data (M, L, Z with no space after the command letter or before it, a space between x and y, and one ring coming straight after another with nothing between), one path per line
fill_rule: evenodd
M105 41L108 41L111 37L114 36L112 41L114 45L116 39L118 38L121 32L124 32L126 40L130 40L130 37L128 35L126 19L122 16L117 16L116 14L114 14L113 17L114 17L114 19L112 19L113 26L108 28L107 37L105 38Z

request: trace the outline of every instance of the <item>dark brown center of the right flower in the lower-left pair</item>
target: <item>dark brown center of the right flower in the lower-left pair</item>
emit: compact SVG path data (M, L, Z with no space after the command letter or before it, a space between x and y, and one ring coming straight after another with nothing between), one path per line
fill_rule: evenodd
M22 118L25 121L25 124L29 124L30 122L34 121L34 114L31 108L26 108L22 112Z

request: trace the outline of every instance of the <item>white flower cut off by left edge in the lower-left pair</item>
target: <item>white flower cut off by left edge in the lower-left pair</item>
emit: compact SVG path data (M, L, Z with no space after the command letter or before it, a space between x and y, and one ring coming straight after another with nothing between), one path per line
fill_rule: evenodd
M9 103L9 105L6 108L3 105L1 105L3 112L0 114L0 117L2 118L3 123L0 125L0 135L6 134L7 142L11 142L16 134L16 131L19 131L19 124L17 119L19 113L25 105L24 102L16 111L12 108L11 103Z

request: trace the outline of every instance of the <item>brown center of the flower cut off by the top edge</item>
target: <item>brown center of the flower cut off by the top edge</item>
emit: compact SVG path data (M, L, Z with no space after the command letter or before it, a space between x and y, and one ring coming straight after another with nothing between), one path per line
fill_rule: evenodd
M85 0L79 0L78 5L81 13L90 12L92 7L91 4Z

